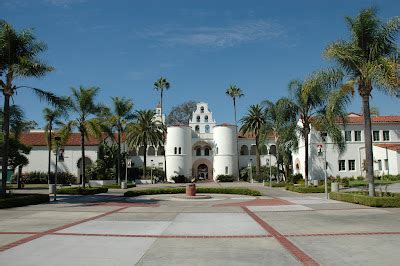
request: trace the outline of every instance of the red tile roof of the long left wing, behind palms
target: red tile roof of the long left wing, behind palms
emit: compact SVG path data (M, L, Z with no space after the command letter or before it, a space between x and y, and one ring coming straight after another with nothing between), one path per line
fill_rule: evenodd
M103 139L106 138L104 134ZM45 132L28 132L22 133L20 140L25 145L29 146L47 146L46 133ZM93 137L85 140L85 146L96 146L99 145L101 140ZM80 146L81 145L81 135L79 133L72 133L68 138L65 146Z

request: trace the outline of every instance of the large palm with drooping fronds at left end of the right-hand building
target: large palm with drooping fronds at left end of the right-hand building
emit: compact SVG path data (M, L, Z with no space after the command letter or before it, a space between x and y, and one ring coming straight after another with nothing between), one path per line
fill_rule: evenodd
M324 131L338 144L339 150L344 150L344 142L340 129L337 126L338 117L345 117L345 107L349 101L349 92L352 91L352 83L341 85L340 90L334 89L341 84L343 74L337 70L320 70L312 73L304 81L292 80L289 83L289 91L292 98L291 112L297 114L301 121L301 127L297 130L304 140L304 178L308 185L308 155L309 134L311 126L323 128Z

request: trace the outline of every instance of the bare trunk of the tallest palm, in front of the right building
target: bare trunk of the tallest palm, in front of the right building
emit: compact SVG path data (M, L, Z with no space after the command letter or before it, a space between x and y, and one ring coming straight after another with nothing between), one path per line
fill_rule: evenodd
M374 155L372 149L371 133L371 112L369 108L369 94L362 95L364 113L364 140L365 140L365 160L367 166L368 195L375 196L374 184Z

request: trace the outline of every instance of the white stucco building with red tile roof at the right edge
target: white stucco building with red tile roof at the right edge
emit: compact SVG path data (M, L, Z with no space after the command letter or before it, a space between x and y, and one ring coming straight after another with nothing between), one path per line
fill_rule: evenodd
M357 177L365 176L365 143L363 117L350 113L342 134L346 140L346 150L340 154L324 132L311 129L309 136L309 178L324 178L324 151L328 176ZM400 116L373 116L372 137L374 174L400 174ZM322 148L322 154L318 150ZM304 176L305 146L299 141L298 152L293 152L294 173Z

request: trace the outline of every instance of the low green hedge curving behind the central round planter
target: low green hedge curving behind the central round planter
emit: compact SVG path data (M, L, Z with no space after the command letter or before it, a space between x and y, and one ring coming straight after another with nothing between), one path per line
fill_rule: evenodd
M136 197L141 195L155 195L155 194L180 194L185 193L186 188L153 188L143 190L130 190L125 192L125 197ZM196 188L197 193L211 193L211 194L239 194L239 195L250 195L250 196L261 196L261 193L257 190L248 188L208 188L198 187Z

